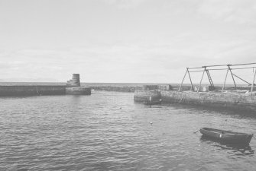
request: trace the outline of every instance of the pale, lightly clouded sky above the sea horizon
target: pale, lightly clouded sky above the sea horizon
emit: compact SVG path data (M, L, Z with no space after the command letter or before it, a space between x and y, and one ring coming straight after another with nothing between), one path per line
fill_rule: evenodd
M255 30L254 0L0 0L0 81L180 83L256 62Z

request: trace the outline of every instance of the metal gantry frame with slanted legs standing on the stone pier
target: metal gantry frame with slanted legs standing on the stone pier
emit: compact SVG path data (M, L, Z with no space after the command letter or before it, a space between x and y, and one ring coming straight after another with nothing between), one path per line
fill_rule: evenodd
M237 66L242 66L242 65L254 65L254 66L251 66L251 67L244 67L244 68L236 68ZM245 83L251 85L251 95L252 95L252 91L253 91L253 88L254 88L254 85L255 85L255 84L254 84L255 76L256 76L256 69L254 69L254 68L256 68L255 65L256 65L256 63L247 63L247 64L236 64L236 65L231 65L231 64L228 64L228 65L207 65L207 66L202 66L202 67L186 68L186 73L185 73L185 75L184 75L184 77L183 77L183 80L182 80L182 82L181 82L181 84L180 84L180 87L179 87L179 90L178 90L178 91L180 91L181 87L183 86L183 81L184 81L185 78L186 78L186 74L188 74L188 75L189 75L189 78L190 78L190 84L191 84L190 90L193 90L193 91L194 91L193 82L192 82L192 79L191 79L191 77L190 77L190 73L192 73L192 72L203 72L202 78L201 78L201 80L200 80L200 83L199 83L199 86L198 86L198 89L197 89L197 92L199 92L199 89L200 89L200 87L201 87L201 84L202 84L202 81L203 81L203 76L204 76L205 72L206 72L206 74L207 74L207 77L208 77L208 79L209 79L209 83L210 83L211 87L214 88L214 84L213 84L213 81L212 81L212 77L211 77L209 71L214 71L214 70L226 70L227 72L226 72L226 74L225 74L225 81L224 81L223 86L222 86L222 93L223 93L223 90L225 89L225 82L226 82L226 80L227 80L228 71L229 71L230 74L232 75L232 80L233 80L233 82L234 82L235 87L237 87L237 85L236 85L236 83L235 83L235 78L238 78L238 79L240 79L241 81L244 81ZM215 67L224 67L224 66L225 66L226 68L215 68ZM234 68L234 67L235 67L235 68ZM234 74L234 73L232 72L232 70L248 69L248 68L253 68L253 69L254 69L254 77L253 77L252 84L250 84L248 81L245 81L244 79L238 77L236 74ZM234 78L234 76L235 76L235 78Z

